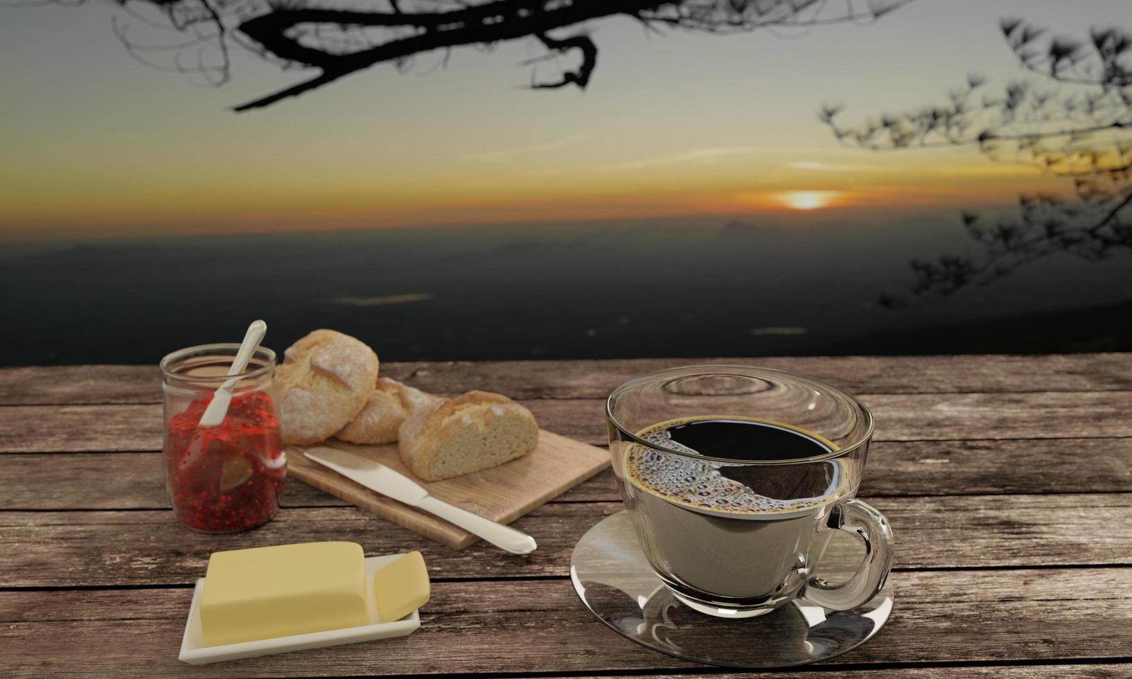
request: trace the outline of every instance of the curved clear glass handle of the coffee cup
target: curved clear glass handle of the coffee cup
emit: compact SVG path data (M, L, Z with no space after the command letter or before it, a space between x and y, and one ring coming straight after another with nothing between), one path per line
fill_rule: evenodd
M809 578L800 598L835 611L848 611L867 603L884 586L892 569L892 527L884 515L858 499L841 500L830 510L826 528L847 531L865 543L865 558L857 573L841 584Z

